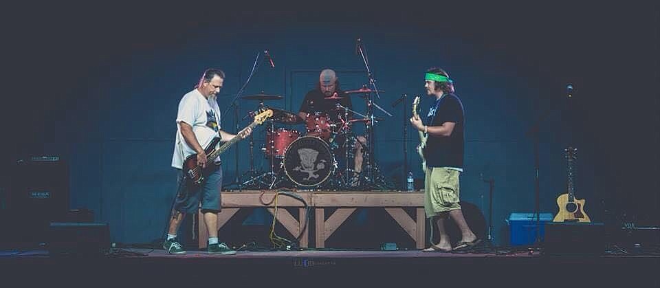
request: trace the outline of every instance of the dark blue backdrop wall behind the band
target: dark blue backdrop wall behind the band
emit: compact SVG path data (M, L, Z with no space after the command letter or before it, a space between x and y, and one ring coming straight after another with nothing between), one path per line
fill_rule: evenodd
M62 155L72 208L94 210L97 221L110 223L113 241L145 243L162 233L175 193L177 104L204 69L227 74L219 97L224 111L256 54L268 49L276 67L259 67L247 94L285 96L270 104L297 111L320 69L335 69L344 89L366 84L355 55L358 37L386 91L377 103L395 114L377 113L385 120L377 126L376 156L388 177L400 181L405 172L404 107L391 103L404 93L423 94L423 72L439 66L456 81L467 113L461 197L487 215L482 177L495 179L496 239L509 213L534 209L533 141L526 132L539 118L542 212L555 212L555 197L565 190L562 151L573 142L580 151L577 195L587 199L592 219L637 206L637 219L657 223L656 6L456 5L443 17L433 9L363 16L140 7L91 15L83 6L76 6L79 13L51 8L10 34L17 45L5 54L13 58L8 80L17 85L3 105L2 160L10 168L21 157ZM574 120L566 117L568 83L576 87ZM360 98L353 103L364 111ZM239 118L256 104L240 100ZM410 100L405 109L409 114ZM232 112L222 126L235 132ZM259 150L263 134L255 133L257 168L267 163ZM421 178L416 133L409 131L408 141L410 170ZM241 142L223 157L225 183L249 169L248 153Z

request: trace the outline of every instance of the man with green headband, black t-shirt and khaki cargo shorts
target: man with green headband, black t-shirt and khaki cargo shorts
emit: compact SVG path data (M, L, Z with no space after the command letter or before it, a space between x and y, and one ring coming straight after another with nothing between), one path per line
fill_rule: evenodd
M465 112L461 99L454 94L454 81L440 68L431 68L424 77L426 94L434 98L426 119L410 118L418 131L426 134L426 177L424 179L424 210L426 217L437 225L440 241L423 252L451 252L472 247L481 242L470 230L459 204L459 175L463 172ZM461 230L461 240L452 248L445 230L451 218Z

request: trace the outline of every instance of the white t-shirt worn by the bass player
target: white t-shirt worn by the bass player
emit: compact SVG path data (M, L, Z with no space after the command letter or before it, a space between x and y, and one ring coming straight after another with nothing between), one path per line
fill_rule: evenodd
M194 89L181 98L179 102L179 111L177 112L177 136L174 144L174 155L172 156L172 167L181 169L184 159L195 154L195 150L188 146L184 135L181 135L179 122L186 122L192 126L192 132L195 133L197 142L201 148L206 148L214 137L220 137L220 109L215 97L208 99L201 95L197 89ZM219 162L220 159L215 159Z

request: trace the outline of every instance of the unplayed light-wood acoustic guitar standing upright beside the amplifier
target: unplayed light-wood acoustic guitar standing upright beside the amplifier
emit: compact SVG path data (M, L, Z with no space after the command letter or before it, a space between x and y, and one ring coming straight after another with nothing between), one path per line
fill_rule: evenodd
M584 199L575 199L575 162L577 162L577 148L569 146L569 148L564 149L566 156L566 161L568 162L566 166L567 181L566 188L568 192L566 194L559 195L557 197L557 206L559 206L559 212L557 216L553 219L553 222L591 222L591 219L584 212Z

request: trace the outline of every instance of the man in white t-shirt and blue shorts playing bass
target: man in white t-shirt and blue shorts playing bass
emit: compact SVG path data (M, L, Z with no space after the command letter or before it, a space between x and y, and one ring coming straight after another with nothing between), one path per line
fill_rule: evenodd
M206 227L217 227L217 213L220 212L221 203L222 168L219 157L213 159L213 163L208 163L203 147L217 141L214 140L215 138L227 142L236 136L245 138L252 133L250 127L243 129L238 135L220 129L220 109L216 96L222 88L224 78L224 72L219 69L204 71L197 87L186 93L179 102L177 136L172 157L172 166L179 170L177 199L172 209L168 235L163 243L163 248L169 254L186 253L176 238L177 230L186 214L197 213L200 202ZM189 181L181 170L186 157L195 154L197 154L197 166L203 168L203 180L200 183ZM236 251L227 247L225 243L218 242L217 230L209 229L208 236L208 252L236 254Z

